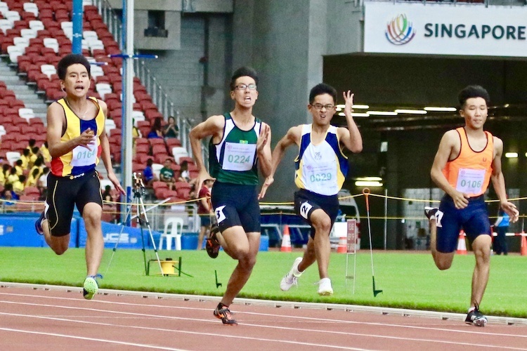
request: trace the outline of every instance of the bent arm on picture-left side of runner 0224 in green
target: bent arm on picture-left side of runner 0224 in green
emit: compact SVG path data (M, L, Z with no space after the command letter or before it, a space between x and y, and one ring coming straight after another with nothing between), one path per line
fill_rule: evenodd
M190 147L192 147L192 154L196 162L197 170L200 173L197 176L196 189L201 189L204 180L214 179L207 172L204 160L202 157L202 142L203 138L212 137L212 142L217 144L223 138L223 128L225 127L225 117L221 114L211 116L205 121L192 128L188 134L190 140ZM198 192L196 192L198 193Z

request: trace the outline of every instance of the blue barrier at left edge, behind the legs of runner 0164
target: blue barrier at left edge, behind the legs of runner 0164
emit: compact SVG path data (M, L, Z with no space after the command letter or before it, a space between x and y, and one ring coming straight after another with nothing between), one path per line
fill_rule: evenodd
M0 246L44 247L44 236L37 234L34 223L37 213L8 213L0 215ZM70 247L77 247L79 221L72 219Z

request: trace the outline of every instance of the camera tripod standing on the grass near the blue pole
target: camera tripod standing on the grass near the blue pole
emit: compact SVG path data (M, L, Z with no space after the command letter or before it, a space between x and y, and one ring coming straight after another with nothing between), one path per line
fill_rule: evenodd
M119 244L119 240L121 239L122 231L124 230L124 223L126 223L128 220L133 220L136 218L138 227L141 228L141 242L143 244L143 260L145 263L145 274L148 275L148 265L146 263L146 251L145 251L145 237L143 234L143 224L148 227L148 234L150 235L150 240L152 241L152 246L154 247L155 257L157 258L157 263L160 265L160 272L161 275L163 274L163 270L161 267L161 260L160 256L157 254L157 248L155 247L155 241L154 237L152 236L152 229L150 228L150 222L148 222L148 217L146 216L146 209L145 204L143 203L143 194L145 194L145 185L143 183L143 179L141 178L141 173L139 173L139 176L136 172L134 172L134 201L131 205L129 205L128 211L126 211L126 216L124 217L124 221L122 221L121 225L121 232L119 232L119 237L117 238L117 242L115 243L115 247L112 249L112 258L110 258L110 262L108 263L108 268L106 268L106 273L108 273L108 270L110 269L110 265L112 264L113 256L115 256L115 251L117 251L117 245ZM134 208L134 205L136 206L136 215L131 217L132 214L132 208Z

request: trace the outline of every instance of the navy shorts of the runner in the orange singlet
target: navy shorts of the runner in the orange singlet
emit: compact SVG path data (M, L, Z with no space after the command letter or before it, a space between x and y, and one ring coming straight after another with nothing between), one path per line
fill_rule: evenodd
M470 198L469 206L462 209L455 208L453 199L445 195L441 199L436 220L436 249L442 253L451 253L457 249L461 229L470 242L479 235L490 235L490 220L483 195Z

